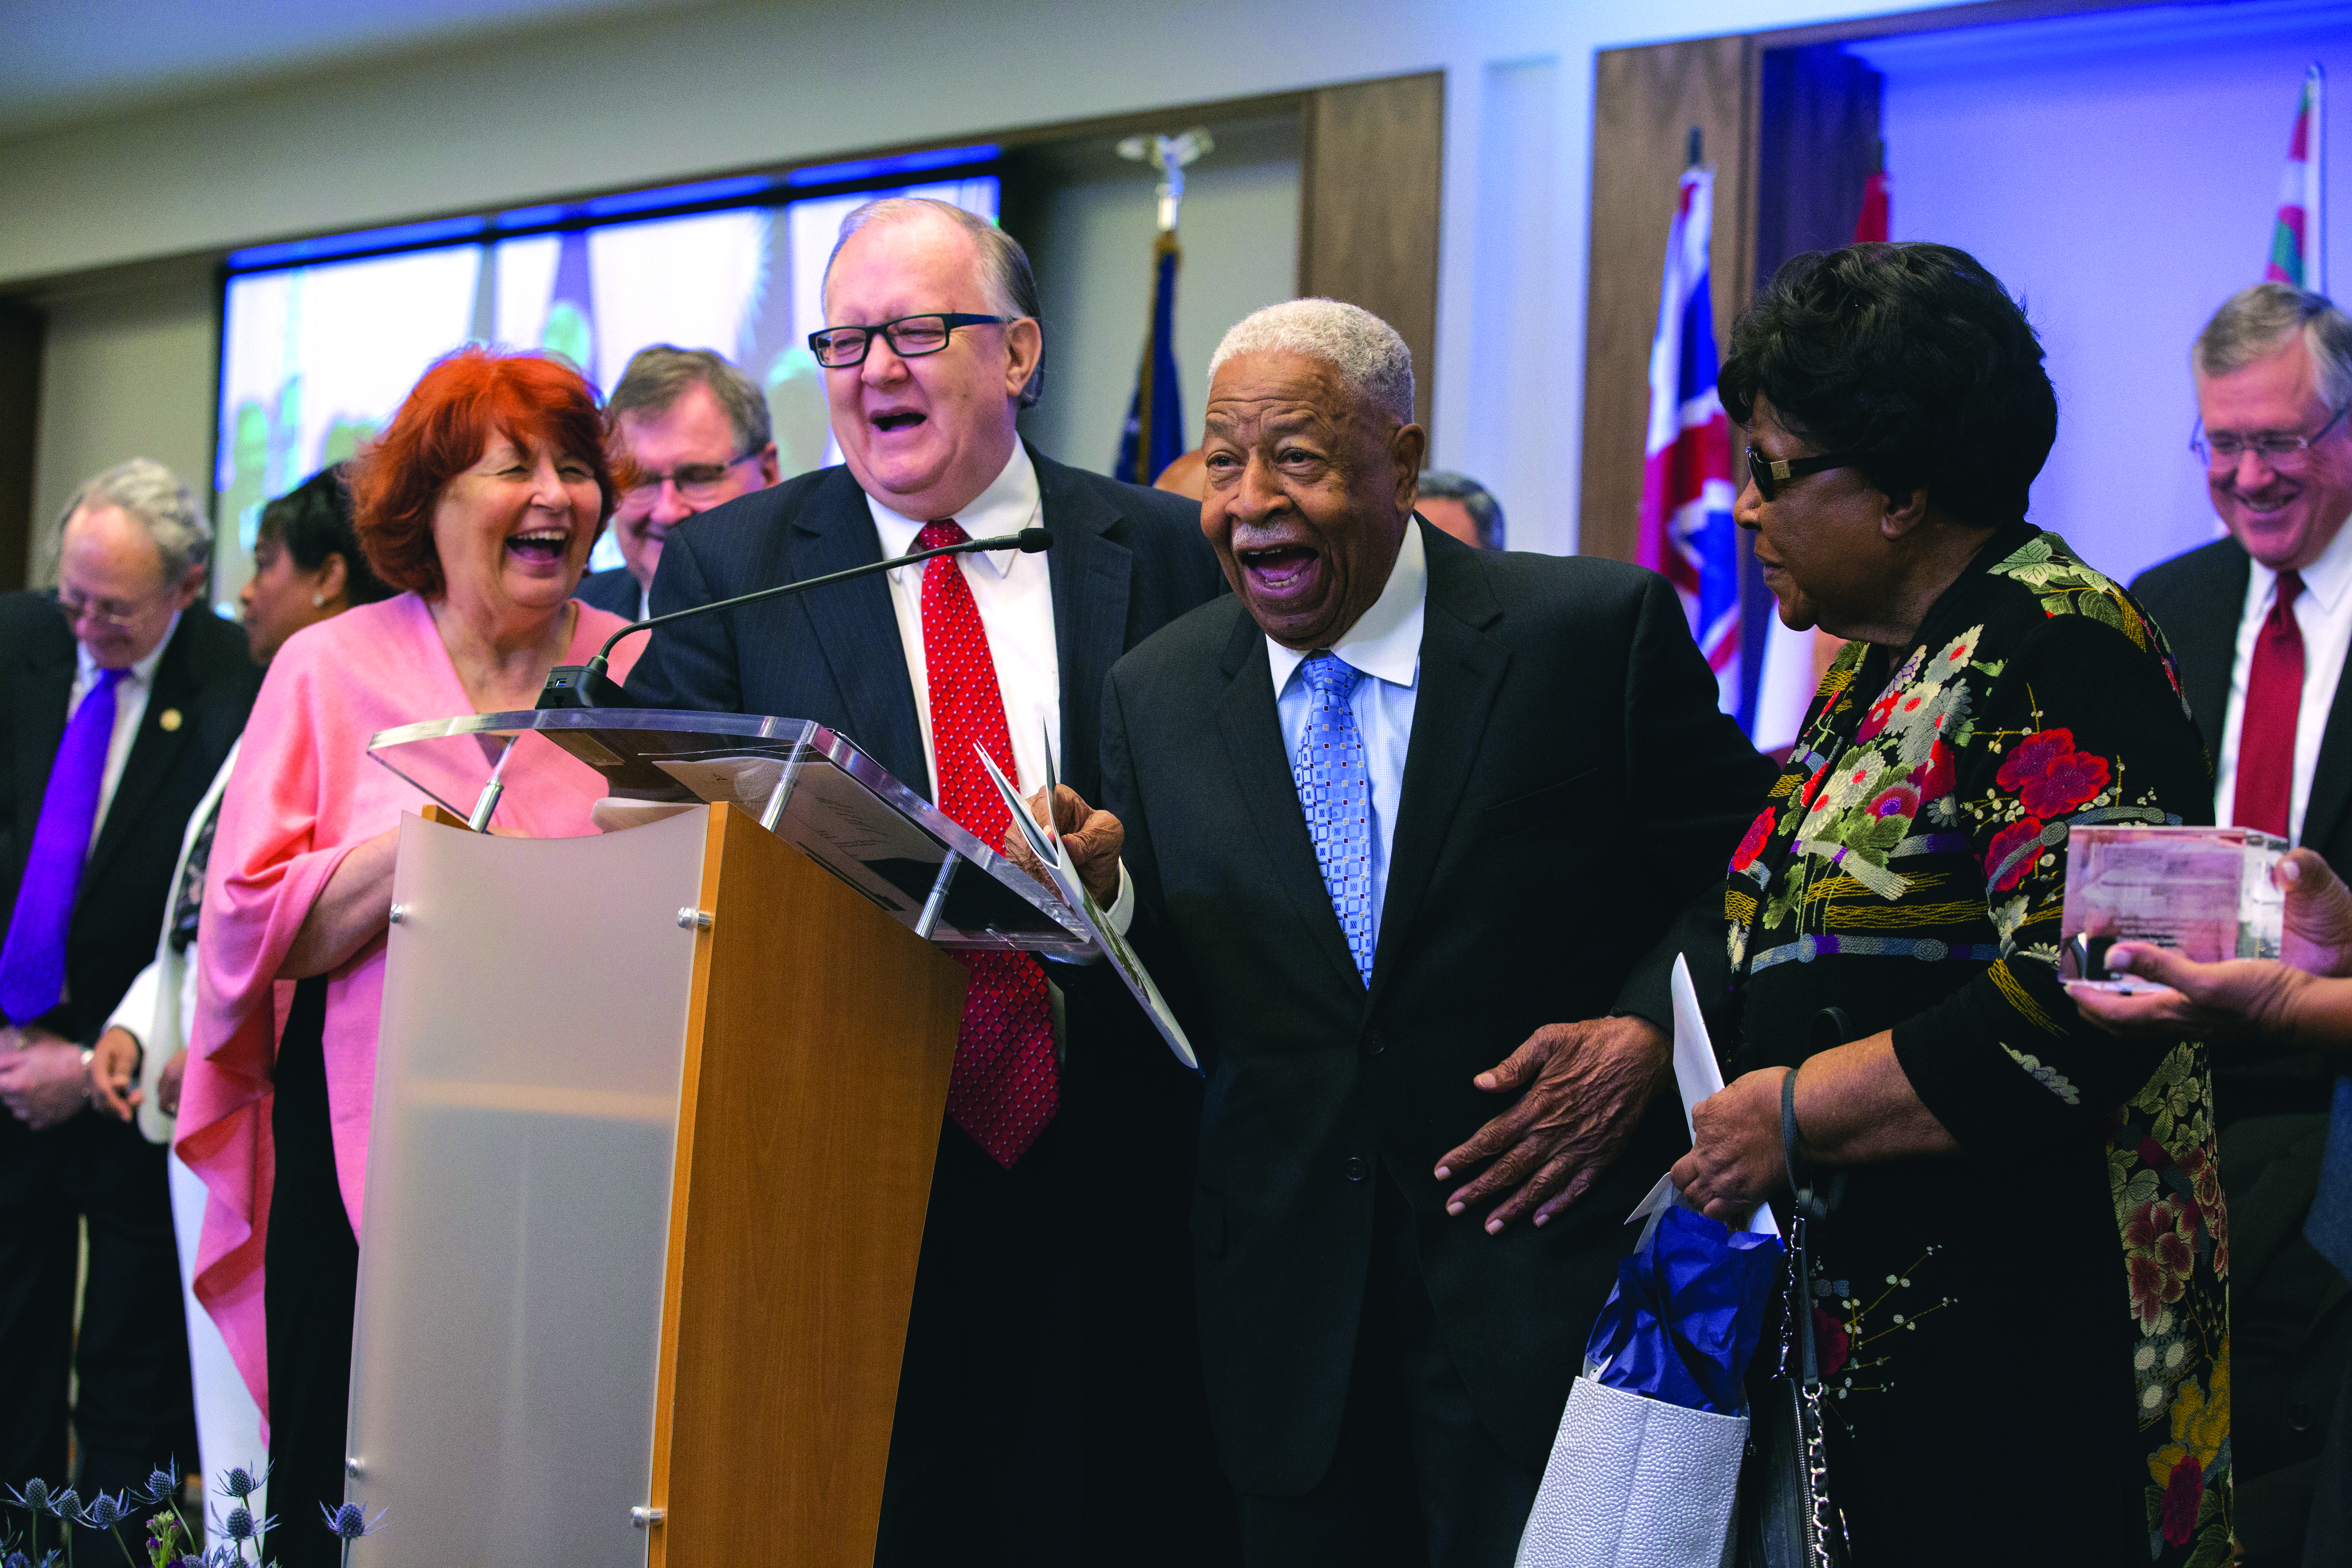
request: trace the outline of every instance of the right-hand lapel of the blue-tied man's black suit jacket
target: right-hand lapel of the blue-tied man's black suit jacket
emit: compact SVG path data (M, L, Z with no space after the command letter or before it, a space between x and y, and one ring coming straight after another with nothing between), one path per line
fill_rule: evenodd
M1477 552L1465 545L1444 548L1451 541L1435 538L1437 531L1418 520L1414 527L1423 529L1428 543L1430 599L1421 623L1414 738L1404 750L1397 835L1388 858L1388 891L1381 898L1381 945L1371 966L1374 1001L1395 973L1397 954L1411 940L1414 917L1430 891L1437 856L1477 766L1486 715L1510 668L1510 649L1484 635L1503 611L1486 588Z

